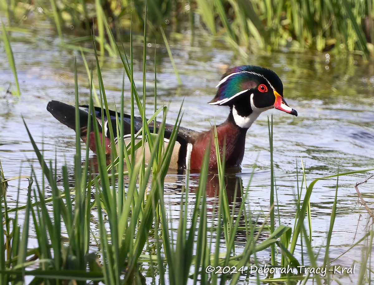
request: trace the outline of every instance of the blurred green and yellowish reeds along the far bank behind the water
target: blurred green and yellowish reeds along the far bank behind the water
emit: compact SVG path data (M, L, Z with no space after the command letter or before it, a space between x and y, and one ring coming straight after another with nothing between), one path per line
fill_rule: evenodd
M8 22L44 16L61 40L74 30L80 40L95 33L99 52L113 53L117 40L129 30L143 33L146 0L5 0ZM245 55L282 49L354 52L373 56L373 1L371 0L154 0L148 1L148 37L163 29L171 38L206 33ZM141 36L142 37L142 36ZM76 39L77 40L77 39Z

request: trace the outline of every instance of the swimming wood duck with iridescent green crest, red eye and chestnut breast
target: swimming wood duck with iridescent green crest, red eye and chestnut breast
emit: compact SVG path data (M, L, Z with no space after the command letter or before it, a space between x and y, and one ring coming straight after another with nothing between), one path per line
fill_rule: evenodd
M297 116L297 111L289 107L283 99L283 85L278 75L267 68L242 65L227 71L218 82L215 97L209 104L226 105L230 107L229 117L217 126L219 149L225 149L226 168L238 167L242 162L245 146L245 135L248 128L257 117L266 110L276 108L291 115ZM47 110L61 123L75 129L75 107L59 101L50 101ZM108 118L101 117L101 108L95 107L96 119L105 131L106 153L110 154L110 132ZM104 111L105 114L105 111ZM116 112L109 111L114 136L116 137ZM81 138L86 142L90 136L89 148L95 152L93 131L87 131L88 106L82 105L79 109ZM120 114L118 114L118 117ZM124 114L124 134L131 133L130 115ZM142 120L135 117L135 132L142 126ZM156 125L156 129L159 124ZM165 140L171 135L174 125L166 125ZM150 125L153 131L153 124ZM226 144L226 145L224 145ZM217 157L214 146L214 129L197 132L186 128L179 128L177 143L170 168L199 170L206 147L210 148L209 168L217 169Z

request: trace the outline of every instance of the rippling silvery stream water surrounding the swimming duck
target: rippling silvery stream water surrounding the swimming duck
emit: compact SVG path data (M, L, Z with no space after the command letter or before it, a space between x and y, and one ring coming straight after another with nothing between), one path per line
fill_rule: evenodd
M41 23L41 27L12 34L12 49L15 55L18 79L21 85L20 98L5 95L13 75L6 56L0 57L0 159L7 178L30 175L31 165L41 177L40 166L28 138L22 117L34 140L44 150L46 159L57 158L57 167L65 163L73 166L75 152L74 132L56 121L47 111L50 100L74 104L74 61L77 60L80 103L88 102L89 80L80 53L64 49L52 30ZM252 169L254 177L248 188L245 201L254 213L269 211L270 153L268 141L268 116L274 121L274 161L278 191L278 207L281 223L292 226L295 215L295 193L297 193L297 170L301 173L300 157L306 165L307 183L315 178L359 169L374 168L373 146L373 100L374 66L359 58L340 59L325 54L299 54L293 52L270 55L249 55L247 59L227 50L219 44L197 36L198 43L190 47L180 42L172 46L172 52L183 83L177 78L161 45L157 49L157 94L158 103L169 107L168 122L174 123L183 103L182 125L196 130L205 130L214 123L223 122L227 107L206 104L215 94L215 86L226 65L254 64L269 67L281 77L284 96L288 104L298 111L298 117L278 110L261 114L248 131L242 171L235 181L248 186ZM1 46L1 49L3 47ZM142 48L135 49L140 60ZM148 49L147 57L147 112L153 110L154 49ZM87 55L92 61L92 54ZM122 88L122 63L116 58L104 58L101 71L109 102L119 102ZM135 64L135 82L141 90L142 64ZM96 82L97 86L97 82ZM125 91L129 91L125 83ZM12 90L15 86L12 86ZM125 95L125 107L130 105L129 92ZM114 108L114 103L110 105ZM84 150L84 147L83 147ZM21 171L20 171L21 169ZM370 223L367 212L358 203L355 184L364 181L369 174L340 177L338 181L337 217L331 239L330 257L336 258L367 231ZM239 180L238 180L239 179ZM300 179L300 176L299 176ZM191 178L197 185L197 178ZM181 182L182 181L182 182ZM181 199L178 185L183 183L175 175L168 175L166 201L170 217L179 219ZM11 181L8 189L9 206L15 205L18 181ZM326 243L336 178L319 181L310 198L313 226L313 244L321 248ZM374 207L373 180L359 189L368 205ZM22 180L20 202L27 199L27 181ZM214 186L208 193L208 208L215 207ZM240 244L238 245L240 248ZM240 249L239 249L240 250ZM365 251L365 249L362 249ZM297 254L300 254L298 252ZM336 264L352 266L361 261L361 249L350 251ZM269 252L261 256L269 260ZM335 276L340 277L340 276ZM341 276L342 284L351 284L354 276ZM244 281L243 281L244 282Z

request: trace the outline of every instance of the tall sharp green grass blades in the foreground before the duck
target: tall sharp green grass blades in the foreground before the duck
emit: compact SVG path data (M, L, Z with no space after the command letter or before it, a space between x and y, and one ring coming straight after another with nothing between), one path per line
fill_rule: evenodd
M131 114L134 116L134 108L138 108L141 116L145 117L145 105L136 92L132 75L132 58L127 58L125 50L122 50L121 56L125 62L125 73L132 83ZM99 100L101 105L107 108L104 82L98 58L96 60L101 94ZM75 79L78 104L77 76ZM155 99L156 95L157 90ZM92 106L91 95L90 108ZM123 92L119 110L123 110ZM162 125L165 124L166 110L163 108ZM118 122L122 122L122 116L123 114L120 114ZM156 116L160 116L157 111L154 117ZM179 122L177 119L169 145L175 142ZM76 129L79 130L79 120L77 124ZM27 128L27 123L25 126ZM100 145L97 125L93 124L93 128L96 145ZM163 126L160 129L162 128ZM40 178L32 174L33 180L30 179L25 205L8 207L6 195L1 196L0 221L4 234L0 235L0 242L6 245L0 251L2 284L22 284L25 276L32 278L33 283L53 284L64 284L69 280L74 280L77 284L86 284L87 281L104 284L144 284L149 276L152 276L153 282L156 278L159 279L160 284L187 284L190 279L193 279L194 284L236 284L239 281L246 282L245 280L249 283L260 283L313 279L317 284L334 281L334 276L326 273L326 270L336 267L330 261L328 252L329 240L333 235L337 197L335 196L331 209L324 264L317 262L318 252L312 245L313 225L309 199L315 183L319 180L363 171L321 177L309 185L306 184L307 178L303 171L300 181L295 181L299 191L295 196L297 211L294 225L286 226L280 224L279 216L282 213L276 206L278 202L272 156L269 178L269 203L272 206L269 212L265 212L263 216L253 215L252 209L245 204L248 190L240 183L234 185L232 196L229 195L225 166L219 161L216 176L218 205L216 212L208 217L206 188L209 181L206 154L199 176L199 186L194 191L191 191L188 185L190 174L186 172L185 185L180 189L180 219L175 225L168 218L170 213L163 198L171 148L163 149L162 131L159 134L151 134L145 123L142 131L144 140L140 147L144 150L145 140L148 140L148 145L151 146L152 157L147 166L144 161L136 162L129 157L129 154L134 152L135 142L126 146L123 138L119 141L119 153L112 154L109 165L105 147L98 148L94 166L89 159L88 148L85 157L81 156L80 133L77 132L74 171L69 174L68 166L65 165L59 170L54 166L54 162L45 161L40 147L27 128L45 179L40 181ZM271 154L272 136L272 122L269 122ZM134 137L133 132L132 138ZM217 140L217 135L215 139ZM220 150L217 148L216 151ZM85 161L83 166L82 159ZM73 186L69 183L70 177L73 177ZM1 185L4 185L4 182L2 177ZM302 193L303 189L305 193ZM336 191L337 189L338 185ZM3 187L3 191L6 191L6 188ZM48 195L50 197L47 197ZM192 209L189 203L191 199L194 200ZM22 219L19 218L21 213ZM35 230L37 239L37 246L32 249L28 248L31 228ZM372 236L372 230L368 230L356 245L367 241L371 248ZM242 246L237 244L240 237L245 237ZM217 250L218 248L221 250ZM269 263L262 263L257 259L258 254L263 251L270 251ZM362 273L358 279L360 283L365 281L370 270L366 269L365 265L369 256L362 258ZM346 268L348 273L352 270L353 267Z

